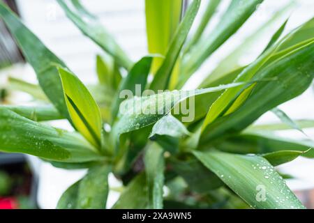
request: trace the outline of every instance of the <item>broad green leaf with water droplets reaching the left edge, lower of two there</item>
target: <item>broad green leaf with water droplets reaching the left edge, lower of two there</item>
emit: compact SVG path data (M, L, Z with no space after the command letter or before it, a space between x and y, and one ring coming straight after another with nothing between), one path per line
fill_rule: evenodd
M0 108L0 151L27 153L59 162L103 160L79 134L36 123L3 107Z

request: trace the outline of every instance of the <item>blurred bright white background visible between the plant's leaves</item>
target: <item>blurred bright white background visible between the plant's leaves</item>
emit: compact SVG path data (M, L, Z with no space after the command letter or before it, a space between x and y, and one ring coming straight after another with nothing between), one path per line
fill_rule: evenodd
M202 0L200 15L207 5L208 0ZM202 78L204 78L215 65L223 59L223 56L234 47L241 44L246 36L256 32L279 7L286 5L290 0L265 0L258 8L257 13L232 37L230 41L220 47L218 52L211 56L207 63L202 66L195 77L190 79L185 86L186 89L194 88ZM288 11L281 19L264 33L263 38L254 47L251 47L248 54L244 55L240 61L246 63L257 56L267 45L271 35L278 29L288 15L291 14L290 22L287 24L287 31L295 28L299 24L313 17L313 0L296 0L294 10ZM68 67L75 72L82 81L93 83L96 81L95 57L101 54L101 49L94 45L88 38L82 36L80 31L66 19L61 8L54 0L17 0L20 13L24 22L29 28L39 36L43 42L52 49L58 56L68 64ZM136 61L141 56L147 54L147 41L144 18L144 0L84 0L85 6L100 17L104 26L117 39L121 46L128 52L131 58ZM218 9L217 15L221 15L227 6L225 1ZM197 18L199 20L199 18ZM213 29L218 21L215 17L209 29ZM31 81L36 81L31 68L23 68L24 77ZM19 75L18 73L15 75ZM292 118L314 119L314 94L313 89L309 89L301 97L285 103L281 109ZM278 121L276 116L265 114L258 122ZM57 123L57 125L60 123ZM62 127L63 123L61 123ZM314 132L307 132L314 139ZM296 132L285 132L291 137L303 137ZM50 164L36 162L33 164L40 176L38 202L41 208L55 208L61 193L80 178L84 171L64 171L56 169ZM314 161L308 159L298 159L290 164L280 167L281 171L297 176L297 180L290 180L289 185L292 190L307 189L314 187ZM119 185L117 180L110 180L112 184ZM117 199L117 194L110 193L108 206L111 206Z

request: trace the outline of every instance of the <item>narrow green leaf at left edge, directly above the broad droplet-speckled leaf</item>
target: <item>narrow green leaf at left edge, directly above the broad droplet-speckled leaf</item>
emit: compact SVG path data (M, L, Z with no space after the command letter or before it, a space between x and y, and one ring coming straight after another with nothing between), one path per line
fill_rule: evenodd
M1 107L9 109L16 114L19 114L20 116L23 116L25 118L29 118L33 121L51 121L63 118L61 114L59 114L57 109L55 109L52 105L33 107L0 105L0 108Z

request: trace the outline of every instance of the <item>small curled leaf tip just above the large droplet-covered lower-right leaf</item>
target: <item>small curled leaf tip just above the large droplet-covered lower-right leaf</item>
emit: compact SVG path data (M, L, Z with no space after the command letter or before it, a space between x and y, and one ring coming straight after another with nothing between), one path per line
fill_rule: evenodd
M300 155L303 155L305 152L301 151L278 151L274 153L266 153L263 154L262 157L264 157L268 162L275 166L278 166L280 164L284 164L286 162L290 162L292 160L297 159Z

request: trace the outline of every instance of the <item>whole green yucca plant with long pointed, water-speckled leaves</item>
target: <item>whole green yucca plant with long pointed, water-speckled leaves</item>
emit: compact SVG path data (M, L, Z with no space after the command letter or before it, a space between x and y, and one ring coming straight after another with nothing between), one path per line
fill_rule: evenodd
M63 169L89 169L57 208L105 208L110 173L124 185L113 208L304 208L275 167L314 157L313 141L276 137L274 131L314 127L313 121L292 121L276 108L313 81L314 19L283 36L285 21L260 56L240 66L239 56L283 8L197 90L182 90L262 0L232 0L208 33L220 2L208 1L190 32L200 0L187 8L181 0L146 0L150 54L134 62L79 1L58 0L68 18L105 51L97 56L94 86L85 86L0 3L0 17L39 82L9 79L8 89L33 95L38 106L0 107L0 150L36 155ZM255 125L268 111L281 123ZM73 132L42 123L56 119L67 119Z

